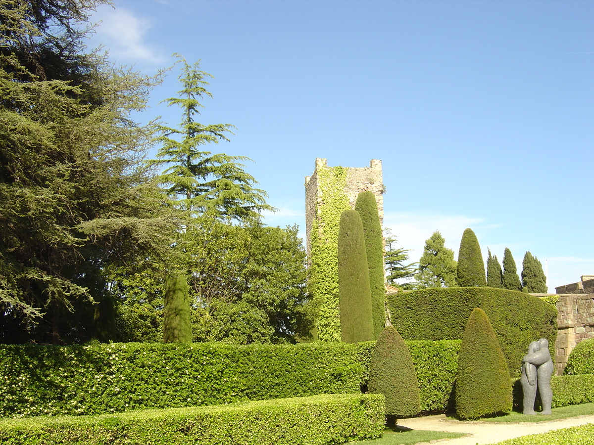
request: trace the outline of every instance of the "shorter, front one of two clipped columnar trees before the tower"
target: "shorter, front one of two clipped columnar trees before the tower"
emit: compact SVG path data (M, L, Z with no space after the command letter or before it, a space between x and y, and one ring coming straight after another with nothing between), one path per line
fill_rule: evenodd
M345 343L372 341L373 311L363 223L356 210L340 215L338 233L340 336Z

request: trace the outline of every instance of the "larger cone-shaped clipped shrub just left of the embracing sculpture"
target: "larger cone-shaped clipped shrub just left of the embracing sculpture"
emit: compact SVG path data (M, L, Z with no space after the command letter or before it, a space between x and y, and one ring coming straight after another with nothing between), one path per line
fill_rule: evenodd
M511 411L511 382L501 346L485 311L470 314L458 355L456 414L462 419Z

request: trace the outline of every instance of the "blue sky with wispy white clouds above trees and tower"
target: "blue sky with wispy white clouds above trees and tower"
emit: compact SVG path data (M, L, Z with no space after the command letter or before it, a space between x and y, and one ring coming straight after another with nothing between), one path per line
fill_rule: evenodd
M384 227L422 254L466 227L519 271L527 250L549 292L594 274L594 2L115 0L91 46L144 74L173 53L214 76L198 122L236 126L212 151L254 160L270 225L305 226L304 177L384 168ZM139 120L179 112L151 94Z

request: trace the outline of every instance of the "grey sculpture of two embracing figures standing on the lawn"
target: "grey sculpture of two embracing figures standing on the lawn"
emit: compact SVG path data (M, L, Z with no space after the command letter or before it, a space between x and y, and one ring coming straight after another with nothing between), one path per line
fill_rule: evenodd
M553 398L551 376L553 370L554 365L551 359L551 352L549 352L548 340L541 338L538 342L530 343L528 354L522 358L522 374L520 374L520 382L522 383L522 391L524 393L524 414L536 414L534 411L534 402L537 389L541 393L541 414L551 414Z

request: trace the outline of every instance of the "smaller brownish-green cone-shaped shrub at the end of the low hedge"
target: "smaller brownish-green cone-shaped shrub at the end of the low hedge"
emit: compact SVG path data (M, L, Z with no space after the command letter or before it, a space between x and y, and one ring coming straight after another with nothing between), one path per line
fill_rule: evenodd
M382 330L369 364L369 392L386 397L388 425L396 417L410 417L420 408L415 365L405 341L392 326Z

